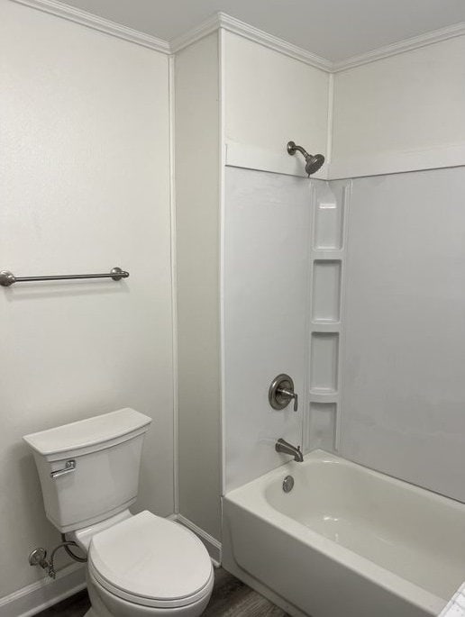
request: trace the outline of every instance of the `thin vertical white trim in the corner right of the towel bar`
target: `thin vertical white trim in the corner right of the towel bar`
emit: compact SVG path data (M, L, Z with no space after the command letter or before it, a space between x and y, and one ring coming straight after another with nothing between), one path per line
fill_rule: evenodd
M178 279L175 177L175 57L168 59L169 83L169 215L171 223L171 306L173 331L173 508L179 512L179 404L178 404Z

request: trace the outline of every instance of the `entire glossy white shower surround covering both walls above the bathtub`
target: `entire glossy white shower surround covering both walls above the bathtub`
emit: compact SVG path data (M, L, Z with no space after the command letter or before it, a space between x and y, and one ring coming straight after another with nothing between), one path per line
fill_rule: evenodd
M464 193L465 168L226 169L225 493L287 462L282 437L465 502ZM269 406L279 373L296 413Z

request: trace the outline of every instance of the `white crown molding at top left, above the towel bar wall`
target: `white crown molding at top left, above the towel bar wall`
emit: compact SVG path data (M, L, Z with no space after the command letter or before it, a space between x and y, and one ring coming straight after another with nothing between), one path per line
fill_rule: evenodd
M171 53L167 41L157 39L157 37L150 36L150 34L146 34L145 32L133 30L120 23L111 22L103 17L87 13L87 11L81 11L74 6L57 2L57 0L12 0L12 2L16 2L19 5L31 6L43 13L50 13L66 19L68 22L80 23L83 26L87 26L87 28L105 32L105 34L110 34L124 41L131 41L132 43L136 43L136 45L148 47L150 50L160 51L165 54Z

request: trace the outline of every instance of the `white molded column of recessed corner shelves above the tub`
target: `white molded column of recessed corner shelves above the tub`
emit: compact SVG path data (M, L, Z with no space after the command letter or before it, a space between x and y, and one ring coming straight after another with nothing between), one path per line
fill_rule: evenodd
M337 451L341 423L341 341L346 219L351 183L313 186L310 370L304 449Z

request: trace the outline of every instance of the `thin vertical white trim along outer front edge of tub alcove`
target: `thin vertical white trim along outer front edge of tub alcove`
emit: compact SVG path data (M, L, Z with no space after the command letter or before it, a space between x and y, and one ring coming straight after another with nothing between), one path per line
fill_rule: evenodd
M224 197L224 182L226 169L226 119L225 119L225 37L224 30L220 28L218 31L218 52L219 52L219 135L220 143L220 185L219 185L219 200L220 200L220 354L221 354L221 494L224 495L226 487L226 421L225 421L225 383L226 383L226 367L224 358L224 237L225 237L225 197Z

